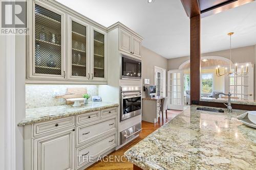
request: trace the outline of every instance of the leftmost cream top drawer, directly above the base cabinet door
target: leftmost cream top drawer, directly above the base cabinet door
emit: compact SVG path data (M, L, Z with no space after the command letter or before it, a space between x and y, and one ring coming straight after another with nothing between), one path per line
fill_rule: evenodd
M59 129L64 129L75 125L75 117L66 117L48 122L33 124L33 136L54 132Z

